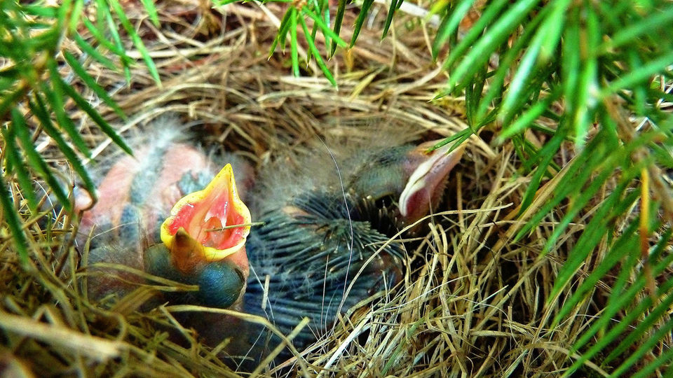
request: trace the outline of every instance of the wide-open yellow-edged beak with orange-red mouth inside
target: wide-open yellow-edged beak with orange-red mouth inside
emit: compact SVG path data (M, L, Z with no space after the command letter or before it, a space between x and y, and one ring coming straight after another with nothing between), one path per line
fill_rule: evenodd
M231 165L226 165L205 189L175 204L161 225L161 241L178 269L186 272L198 263L245 253L250 220L250 210L238 197Z

